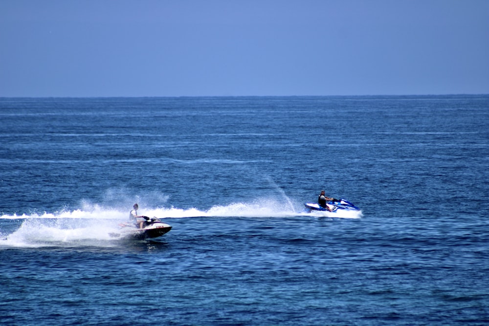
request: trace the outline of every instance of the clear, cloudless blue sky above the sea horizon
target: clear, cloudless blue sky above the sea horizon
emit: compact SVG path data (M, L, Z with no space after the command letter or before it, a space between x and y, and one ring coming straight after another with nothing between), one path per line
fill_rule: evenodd
M482 93L488 0L0 0L0 97Z

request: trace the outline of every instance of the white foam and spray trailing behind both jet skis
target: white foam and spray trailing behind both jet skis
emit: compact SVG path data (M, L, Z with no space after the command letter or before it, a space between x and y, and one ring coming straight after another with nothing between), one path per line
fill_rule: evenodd
M293 205L291 201L279 202L275 199L260 199L253 202L235 202L216 205L208 210L197 208L157 207L145 208L138 214L149 217L340 217L359 218L361 211L312 211L307 213L303 204ZM129 212L106 208L97 204L84 203L81 209L42 214L3 215L3 219L24 219L13 233L2 230L0 246L112 246L113 234L120 233L118 226L128 221ZM299 208L300 207L300 208ZM115 237L116 238L116 237Z

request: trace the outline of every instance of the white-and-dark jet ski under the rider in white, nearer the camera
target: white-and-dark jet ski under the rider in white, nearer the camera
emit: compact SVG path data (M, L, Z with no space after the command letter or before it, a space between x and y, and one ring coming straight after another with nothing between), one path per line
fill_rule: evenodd
M111 237L117 238L133 238L133 239L149 239L158 238L168 233L172 227L163 223L158 217L143 216L144 227L139 229L134 223L121 223L120 233L111 233Z

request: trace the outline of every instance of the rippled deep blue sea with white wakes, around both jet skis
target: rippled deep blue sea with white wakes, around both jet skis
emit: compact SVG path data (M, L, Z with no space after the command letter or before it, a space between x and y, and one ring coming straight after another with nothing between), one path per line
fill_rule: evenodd
M489 95L0 98L1 325L487 325ZM361 213L308 213L321 190ZM114 239L133 203L173 229Z

